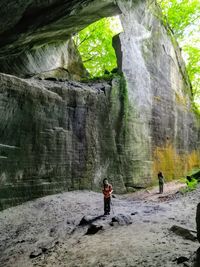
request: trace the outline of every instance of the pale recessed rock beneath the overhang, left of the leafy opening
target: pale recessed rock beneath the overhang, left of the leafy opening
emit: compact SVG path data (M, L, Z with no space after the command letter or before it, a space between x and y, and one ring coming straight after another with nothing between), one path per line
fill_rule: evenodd
M0 69L23 78L80 80L88 76L72 39L32 48L19 55L7 55L0 59Z

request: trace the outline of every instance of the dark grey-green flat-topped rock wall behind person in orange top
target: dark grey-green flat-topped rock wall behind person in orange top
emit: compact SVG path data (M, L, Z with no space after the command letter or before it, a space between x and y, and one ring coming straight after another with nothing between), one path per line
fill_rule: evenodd
M0 83L0 208L97 190L108 174L115 190L125 192L115 141L119 78L89 87L1 74Z

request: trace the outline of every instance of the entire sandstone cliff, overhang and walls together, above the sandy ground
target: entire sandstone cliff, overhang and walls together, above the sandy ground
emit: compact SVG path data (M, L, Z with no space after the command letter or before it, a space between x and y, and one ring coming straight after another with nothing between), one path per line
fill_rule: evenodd
M154 2L26 3L18 21L7 18L1 28L2 72L79 79L87 72L66 35L121 13L124 32L115 47L123 75L81 84L0 74L0 208L61 191L99 190L105 177L115 192L125 192L147 186L159 170L171 179L199 166L190 83ZM22 27L30 14L34 20Z

